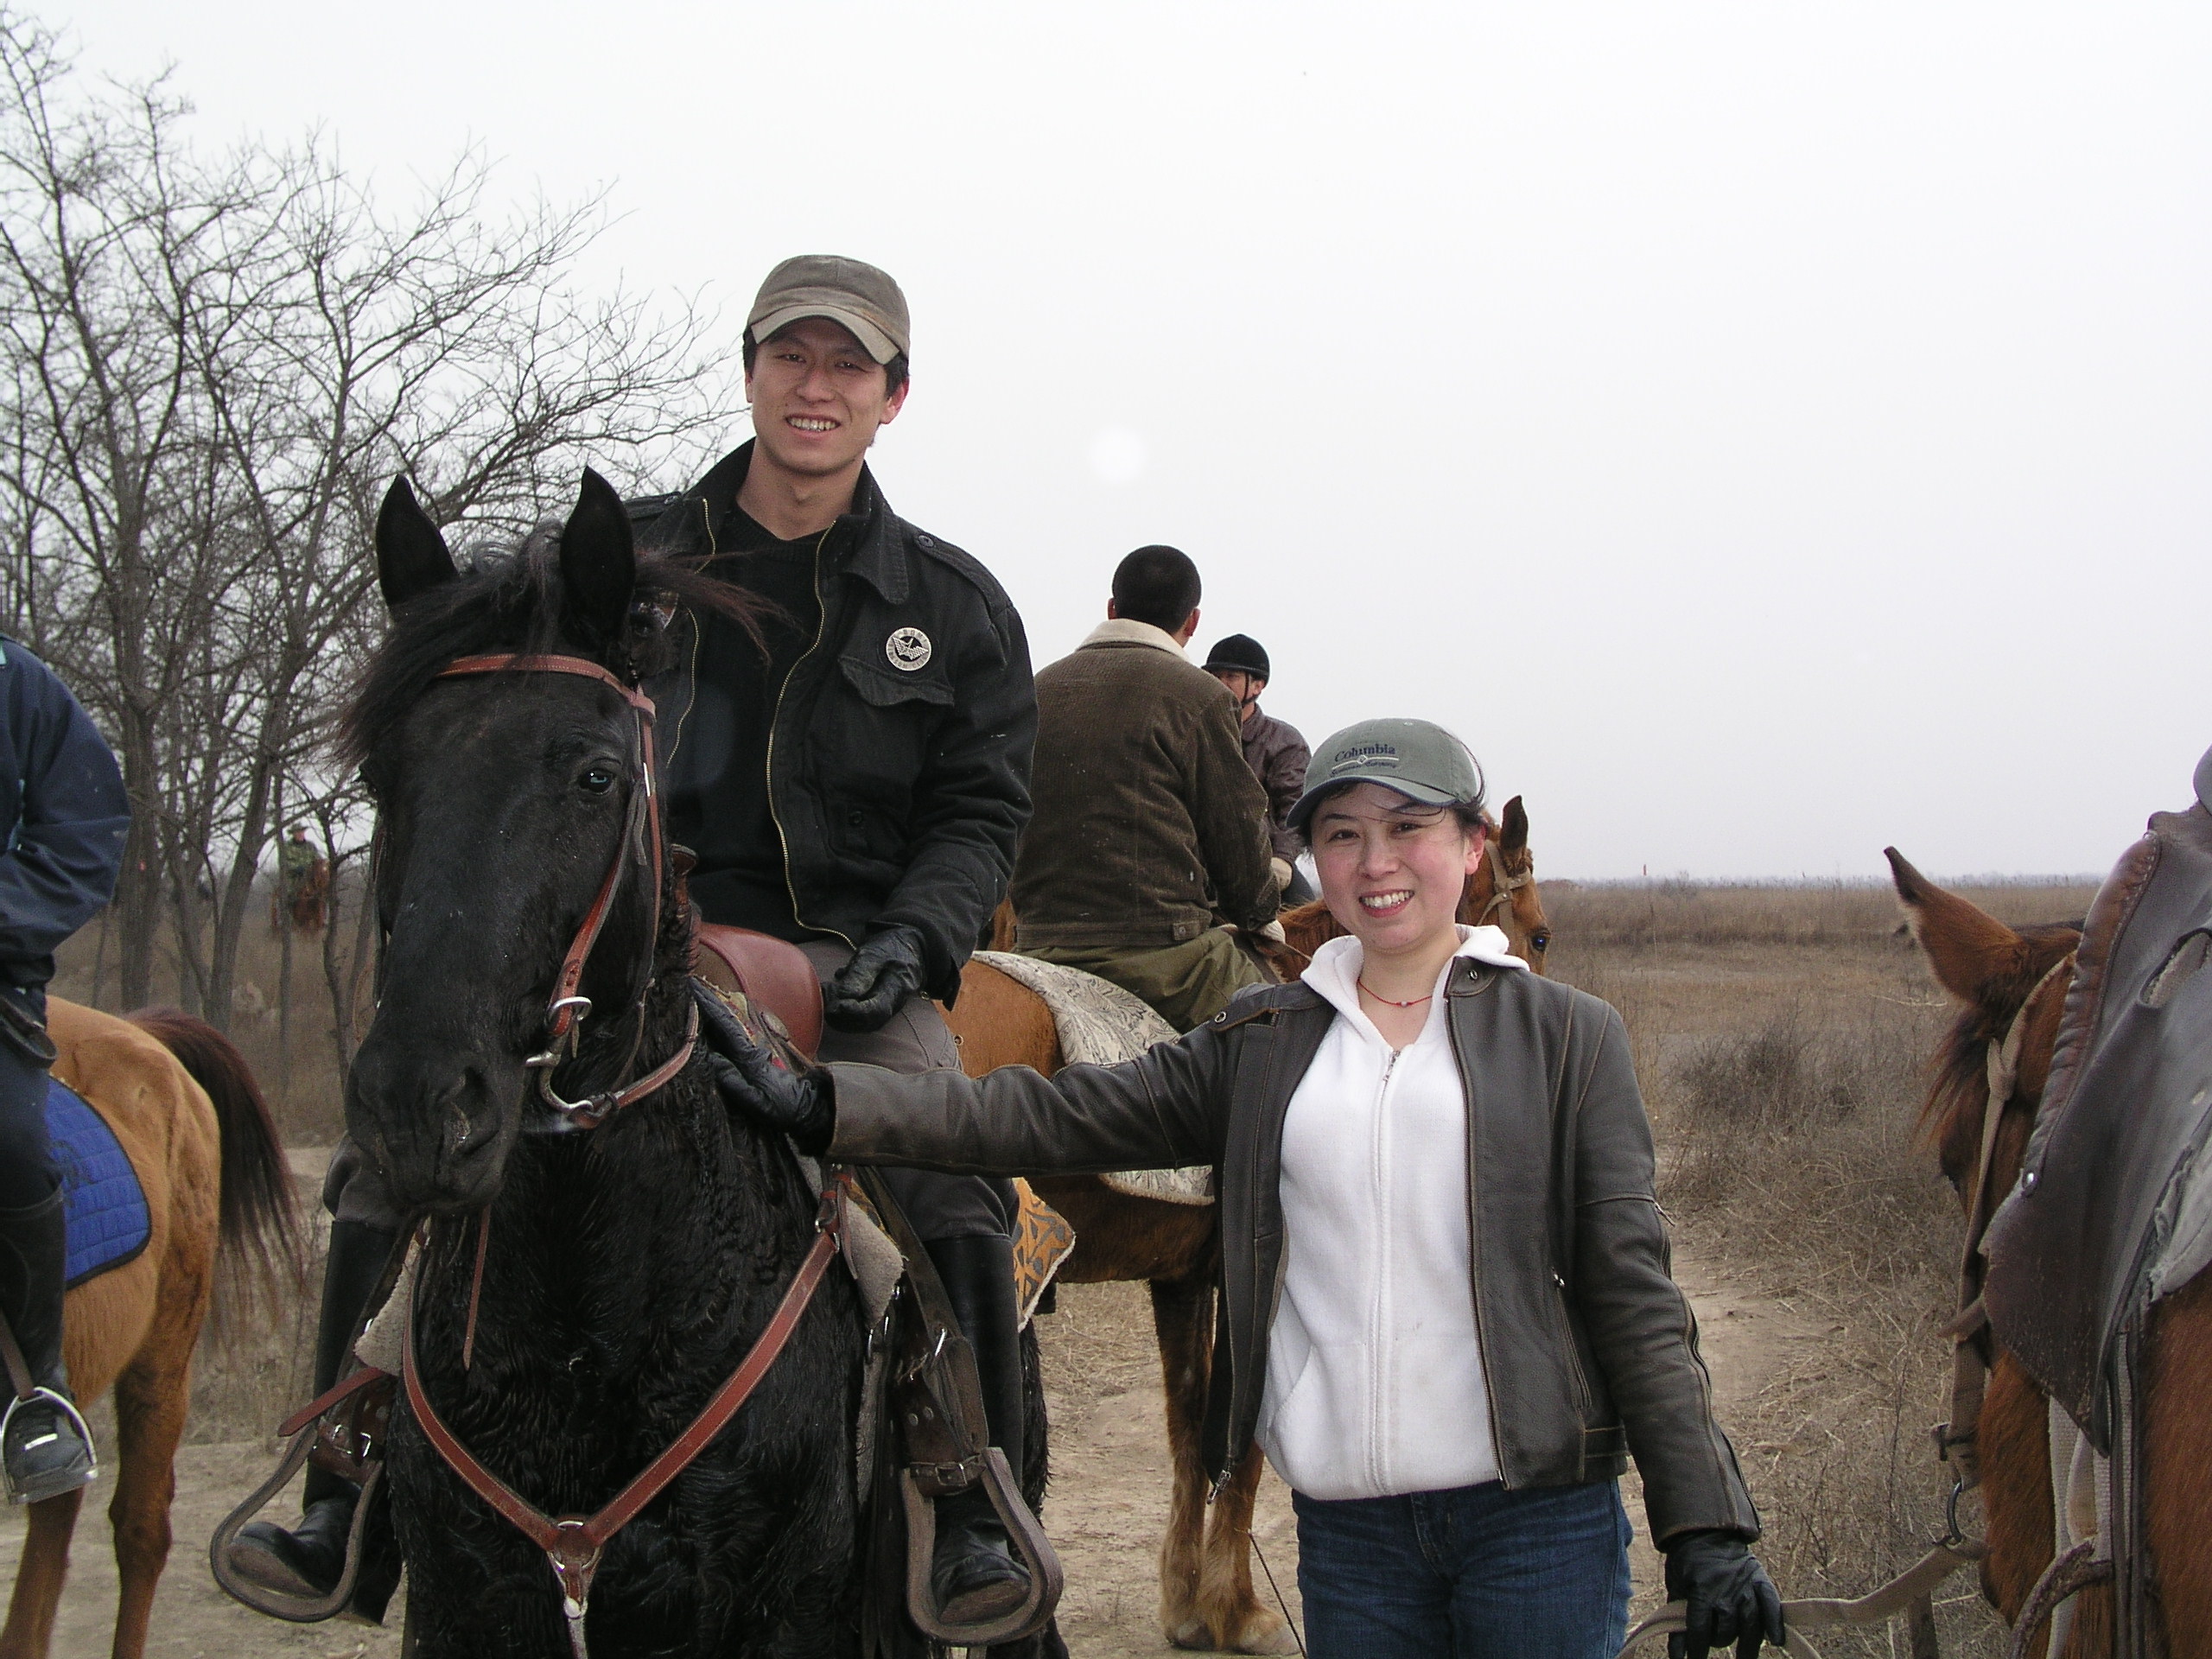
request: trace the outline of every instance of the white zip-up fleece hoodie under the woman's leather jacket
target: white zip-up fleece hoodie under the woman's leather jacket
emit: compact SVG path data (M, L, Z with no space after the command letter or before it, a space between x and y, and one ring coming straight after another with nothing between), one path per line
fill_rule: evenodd
M1387 1498L1498 1480L1469 1270L1467 1095L1429 1020L1391 1053L1360 1013L1360 945L1314 951L1336 1006L1283 1121L1283 1301L1259 1440L1307 1498ZM1526 969L1495 927L1455 956Z

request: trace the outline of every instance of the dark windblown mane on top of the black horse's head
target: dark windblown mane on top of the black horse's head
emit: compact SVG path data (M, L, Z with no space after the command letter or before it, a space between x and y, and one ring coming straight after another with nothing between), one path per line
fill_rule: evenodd
M650 608L661 626L624 633L613 644L586 646L568 611L560 573L555 518L511 549L487 549L451 582L418 593L392 613L392 633L369 657L338 728L338 752L361 765L383 737L414 708L429 684L458 657L489 653L571 655L602 664L637 684L675 661L668 619L675 608L721 615L765 650L761 617L770 606L743 588L706 575L695 560L637 549L633 617Z

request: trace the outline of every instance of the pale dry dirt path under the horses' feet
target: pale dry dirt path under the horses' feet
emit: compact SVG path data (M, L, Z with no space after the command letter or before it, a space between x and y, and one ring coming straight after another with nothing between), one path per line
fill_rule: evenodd
M1674 1272L1697 1307L1725 1425L1776 1369L1785 1345L1812 1327L1781 1303L1730 1281L1694 1248L1677 1250ZM1141 1285L1068 1285L1060 1292L1060 1312L1042 1323L1042 1332L1053 1411L1053 1498L1044 1520L1068 1568L1062 1601L1068 1650L1075 1659L1172 1655L1177 1650L1155 1624L1155 1551L1168 1515L1168 1455L1146 1292ZM148 1652L155 1659L396 1657L396 1619L392 1630L285 1626L248 1613L215 1588L206 1568L208 1533L237 1495L268 1471L268 1458L259 1444L186 1447L179 1455L177 1546L155 1604ZM1630 1515L1641 1524L1635 1478L1626 1495ZM1272 1473L1261 1484L1254 1533L1296 1615L1298 1546L1290 1491ZM20 1553L22 1513L11 1509L0 1515L0 1573L9 1579ZM1641 1537L1632 1564L1641 1604L1657 1586L1657 1555ZM1265 1597L1265 1577L1254 1577ZM55 1655L104 1655L113 1604L106 1515L86 1504Z

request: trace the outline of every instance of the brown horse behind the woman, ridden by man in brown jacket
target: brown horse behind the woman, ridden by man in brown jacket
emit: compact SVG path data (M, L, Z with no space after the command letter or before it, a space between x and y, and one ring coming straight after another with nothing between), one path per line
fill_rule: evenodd
M1535 887L1528 814L1520 796L1504 807L1482 867L1460 894L1460 920L1506 931L1515 956L1537 973L1551 947L1551 922ZM1000 918L998 938L1011 933ZM1270 964L1296 973L1314 949L1343 933L1318 900L1283 914L1290 951L1267 951ZM971 1077L995 1066L1035 1066L1051 1077L1062 1066L1053 1015L1024 984L987 962L960 973L960 1000L945 1013L960 1042L960 1068ZM1166 1203L1115 1192L1095 1175L1033 1175L1029 1183L1075 1228L1075 1252L1060 1267L1071 1283L1141 1279L1152 1290L1152 1329L1168 1391L1168 1451L1175 1498L1159 1544L1159 1619L1179 1648L1292 1652L1296 1637L1252 1590L1252 1500L1261 1453L1250 1449L1208 1511L1199 1425L1212 1374L1214 1274L1221 1243L1210 1206Z

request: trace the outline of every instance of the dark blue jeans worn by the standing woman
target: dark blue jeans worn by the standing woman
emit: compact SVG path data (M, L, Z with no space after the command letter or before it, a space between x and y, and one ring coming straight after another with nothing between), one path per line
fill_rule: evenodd
M1613 1659L1628 1635L1610 1480L1292 1504L1312 1659Z

